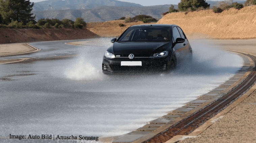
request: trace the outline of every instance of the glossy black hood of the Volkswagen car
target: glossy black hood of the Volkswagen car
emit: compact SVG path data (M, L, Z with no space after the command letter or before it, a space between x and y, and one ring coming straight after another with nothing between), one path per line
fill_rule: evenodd
M115 42L109 51L115 55L148 55L155 51L166 50L168 42Z

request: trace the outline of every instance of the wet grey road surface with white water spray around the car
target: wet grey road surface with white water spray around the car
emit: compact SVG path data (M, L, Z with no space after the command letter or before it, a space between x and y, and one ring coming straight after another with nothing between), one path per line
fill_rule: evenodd
M9 134L122 135L207 93L242 66L238 55L212 49L216 45L207 40L190 40L192 65L165 74L104 75L101 62L110 39L84 46L30 43L42 50L4 57L34 59L0 65L0 140L37 142L8 139ZM71 54L77 56L47 60Z

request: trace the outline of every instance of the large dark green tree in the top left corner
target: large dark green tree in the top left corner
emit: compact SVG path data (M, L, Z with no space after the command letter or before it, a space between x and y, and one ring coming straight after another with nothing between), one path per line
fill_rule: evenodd
M34 3L29 0L0 0L0 11L5 23L11 20L23 22L35 21L35 16L32 16Z

